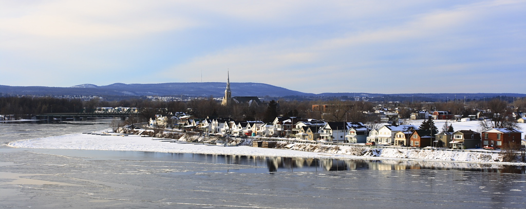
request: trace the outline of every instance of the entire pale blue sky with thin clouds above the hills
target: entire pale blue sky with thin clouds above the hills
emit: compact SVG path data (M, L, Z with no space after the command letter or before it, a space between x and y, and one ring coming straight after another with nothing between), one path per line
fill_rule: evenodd
M0 85L526 93L526 0L0 0Z

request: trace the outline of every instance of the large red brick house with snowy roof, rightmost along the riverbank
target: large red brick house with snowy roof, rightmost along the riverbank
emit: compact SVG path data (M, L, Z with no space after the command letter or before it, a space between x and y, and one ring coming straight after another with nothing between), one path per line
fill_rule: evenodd
M491 128L481 132L482 146L502 148L505 144L521 145L521 131L514 128Z

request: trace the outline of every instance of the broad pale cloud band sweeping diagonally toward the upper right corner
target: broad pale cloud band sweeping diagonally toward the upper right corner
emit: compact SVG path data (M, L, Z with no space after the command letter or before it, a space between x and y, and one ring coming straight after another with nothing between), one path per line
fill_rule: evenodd
M433 79L433 74L449 72L451 76L451 73L462 71L467 74L487 64L498 64L488 61L473 63L470 55L460 55L470 60L457 61L459 54L454 51L483 44L484 37L470 33L471 27L505 12L493 11L495 6L509 6L511 3L514 2L485 2L436 9L413 14L411 19L395 25L366 28L329 38L300 36L294 40L278 38L236 46L177 64L163 75L176 76L177 72L214 69L219 72L211 72L207 76L214 81L222 81L224 76L220 75L229 68L235 69L240 81L270 83L292 89L301 84L323 83L326 86L306 88L315 93L332 88L345 91L345 85L350 82L364 86L362 91L366 91L369 87L365 86L370 86L371 82L386 89L383 91L389 91L388 88L393 88L381 81L382 78L389 79L389 75L425 73L429 77L426 79ZM382 78L369 78L373 75ZM355 77L365 79L358 81ZM333 82L330 82L331 79Z

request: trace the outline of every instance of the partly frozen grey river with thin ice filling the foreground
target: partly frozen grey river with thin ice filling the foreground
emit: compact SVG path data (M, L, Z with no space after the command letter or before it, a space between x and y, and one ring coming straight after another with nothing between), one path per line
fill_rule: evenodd
M6 146L109 123L0 124L0 208L526 208L519 166Z

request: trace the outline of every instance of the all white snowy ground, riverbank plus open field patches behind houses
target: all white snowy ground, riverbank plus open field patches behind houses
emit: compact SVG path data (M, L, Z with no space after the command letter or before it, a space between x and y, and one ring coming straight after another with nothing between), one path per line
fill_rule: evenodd
M420 125L421 121L413 121L411 124ZM436 126L441 128L443 122L436 121ZM520 124L526 129L526 124ZM478 122L456 122L453 123L454 130L477 130ZM523 134L524 136L524 134ZM173 142L168 142L173 141ZM153 137L140 137L136 135L93 135L93 134L68 134L33 140L22 140L9 143L13 147L26 148L59 148L77 150L116 150L116 151L145 151L145 152L168 152L168 153L196 153L196 154L228 154L248 156L281 156L281 157L307 157L307 158L348 158L365 160L418 160L418 161L446 161L446 162L471 162L471 163L494 163L494 164L518 164L525 163L503 163L498 152L474 150L476 152L462 152L451 150L419 150L407 148L366 148L368 154L362 156L353 155L352 147L339 146L339 149L330 147L313 147L313 144L296 143L287 146L290 149L258 148L251 146L217 146L206 144L195 144L177 142L175 140L162 140ZM331 146L331 145L327 145ZM314 152L305 152L309 150Z

